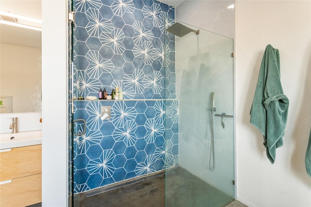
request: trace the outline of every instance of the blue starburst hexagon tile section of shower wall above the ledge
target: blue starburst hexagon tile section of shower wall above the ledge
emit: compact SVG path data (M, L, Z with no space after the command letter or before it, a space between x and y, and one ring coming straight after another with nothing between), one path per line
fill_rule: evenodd
M155 0L74 0L74 94L175 98L174 8ZM169 41L168 41L169 40ZM164 47L164 44L169 47ZM165 68L165 64L168 68ZM167 77L167 78L165 78Z

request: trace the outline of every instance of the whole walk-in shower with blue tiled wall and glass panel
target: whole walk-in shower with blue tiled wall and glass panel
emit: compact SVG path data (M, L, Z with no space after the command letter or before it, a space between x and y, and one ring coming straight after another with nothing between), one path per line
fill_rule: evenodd
M158 1L83 2L69 28L69 203L164 174L167 207L231 201L233 119L224 129L213 109L233 114L232 39ZM96 99L116 88L123 99Z

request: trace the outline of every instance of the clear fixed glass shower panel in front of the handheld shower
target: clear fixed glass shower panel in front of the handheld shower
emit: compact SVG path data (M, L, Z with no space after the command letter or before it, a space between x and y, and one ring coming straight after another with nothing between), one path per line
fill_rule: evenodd
M176 22L167 20L166 28ZM166 206L221 207L234 198L233 40L178 23L193 32L166 32L165 38L166 47L175 48L166 85L175 70L179 123L178 156L166 156Z

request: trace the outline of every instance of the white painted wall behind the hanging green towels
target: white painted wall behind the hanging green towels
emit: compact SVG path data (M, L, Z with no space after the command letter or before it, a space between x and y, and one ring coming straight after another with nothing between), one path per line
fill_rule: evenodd
M238 0L236 36L237 199L250 207L310 207L305 153L311 127L311 1ZM283 91L290 100L284 146L266 157L249 123L266 45L279 49Z

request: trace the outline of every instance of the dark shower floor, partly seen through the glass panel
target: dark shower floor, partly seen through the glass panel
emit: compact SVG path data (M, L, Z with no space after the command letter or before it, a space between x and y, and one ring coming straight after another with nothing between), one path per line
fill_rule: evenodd
M180 167L100 191L80 193L74 207L247 207Z

